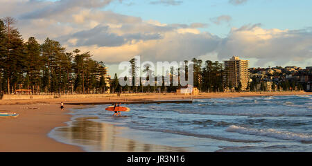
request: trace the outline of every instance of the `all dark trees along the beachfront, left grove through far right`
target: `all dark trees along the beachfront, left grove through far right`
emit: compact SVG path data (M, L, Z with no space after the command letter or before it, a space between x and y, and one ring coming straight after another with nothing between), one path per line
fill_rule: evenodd
M71 53L55 40L46 38L39 44L35 37L24 41L17 28L16 20L12 17L0 19L0 89L1 93L16 93L19 89L28 89L32 93L105 93L109 88L112 93L153 93L159 90L175 92L180 86L125 86L119 85L119 78L114 75L112 82L105 82L106 74L104 62L92 59L89 52ZM223 64L216 61L193 58L194 86L200 91L220 92L232 89L231 85L223 82ZM132 72L135 71L135 59L131 59ZM179 70L179 69L175 69ZM186 68L187 70L187 68ZM147 73L148 67L144 69ZM173 68L171 68L173 73ZM135 73L132 73L136 77ZM134 79L133 79L134 80ZM254 91L256 79L248 84L248 89L236 87L236 91ZM171 78L172 82L172 78ZM295 89L297 82L280 82L272 84L272 89L288 91ZM229 87L226 87L229 86ZM274 86L274 87L273 87ZM298 85L303 89L302 85ZM263 82L261 91L266 91Z

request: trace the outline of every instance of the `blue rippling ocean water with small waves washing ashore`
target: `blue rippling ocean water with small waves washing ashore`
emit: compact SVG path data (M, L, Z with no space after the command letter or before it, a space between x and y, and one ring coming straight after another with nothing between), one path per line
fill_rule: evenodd
M183 151L312 151L311 101L312 95L290 95L200 99L192 104L125 104L131 111L118 118L105 111L107 105L98 105L73 109L68 124L81 126L75 123L78 118L96 117L87 120L123 127L119 137ZM97 146L103 139L82 141L80 137L77 141L68 137L73 128L62 128L49 136L87 151L107 151ZM103 129L78 129L80 135L89 130ZM168 151L179 151L176 148Z

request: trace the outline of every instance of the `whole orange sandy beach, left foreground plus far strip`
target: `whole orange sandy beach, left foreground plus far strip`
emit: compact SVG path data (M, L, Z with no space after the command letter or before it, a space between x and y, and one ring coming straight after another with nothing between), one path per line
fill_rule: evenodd
M70 120L67 111L82 106L65 105L60 102L122 102L125 100L187 100L190 98L237 98L263 95L312 95L305 92L268 93L202 93L196 96L174 94L149 94L111 98L71 98L40 100L0 100L0 111L19 113L17 118L0 118L0 151L83 151L80 147L67 145L49 138L47 134L55 127L66 126ZM108 134L108 133L106 133ZM108 145L107 145L108 146Z

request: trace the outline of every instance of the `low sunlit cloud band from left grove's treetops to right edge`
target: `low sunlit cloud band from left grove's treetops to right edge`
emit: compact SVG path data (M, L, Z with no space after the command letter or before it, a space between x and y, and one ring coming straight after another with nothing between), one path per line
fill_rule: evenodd
M256 66L266 66L268 63L284 66L289 62L311 65L312 28L279 30L254 24L232 28L225 38L189 28L168 30L155 39L144 40L144 37L137 35L137 39L141 40L135 43L125 42L120 46L97 44L81 48L92 50L96 59L108 63L128 61L135 55L141 55L144 61L170 62L216 54L220 61L233 55L242 59L256 59ZM131 35L123 37L136 38Z

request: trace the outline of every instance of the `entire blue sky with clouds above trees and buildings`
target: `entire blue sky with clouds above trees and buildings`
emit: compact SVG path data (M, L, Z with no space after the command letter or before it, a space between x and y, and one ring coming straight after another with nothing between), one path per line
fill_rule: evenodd
M15 17L25 40L90 51L114 75L135 55L312 66L311 8L310 0L0 0L0 18Z

